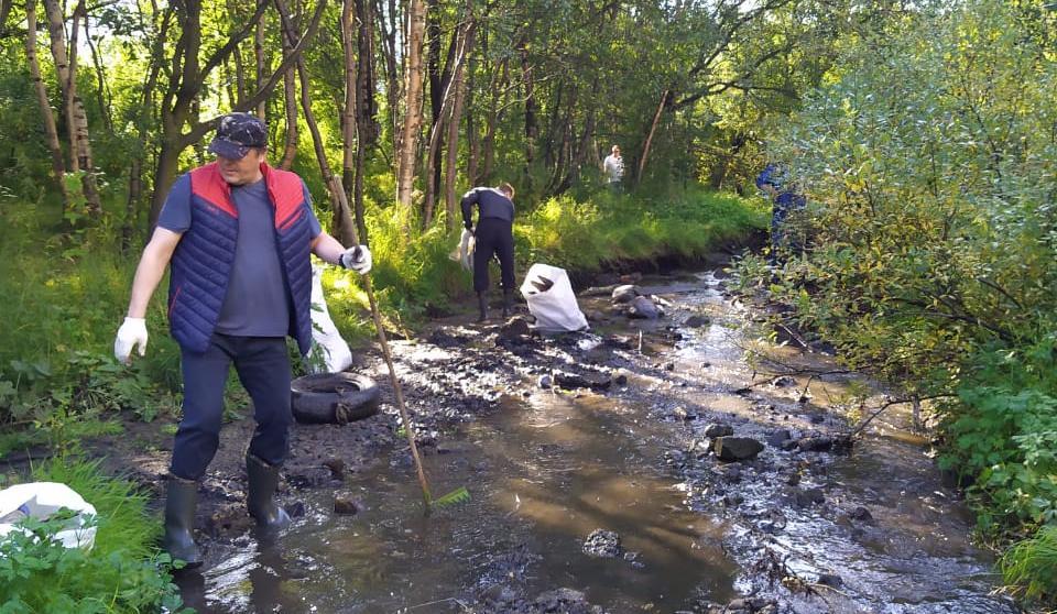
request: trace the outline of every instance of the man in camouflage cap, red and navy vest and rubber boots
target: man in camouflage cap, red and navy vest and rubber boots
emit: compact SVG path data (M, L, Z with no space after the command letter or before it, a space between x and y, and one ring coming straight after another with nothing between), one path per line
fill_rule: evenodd
M170 465L164 547L192 567L201 563L192 534L198 481L217 451L231 364L257 420L246 458L247 507L258 525L281 529L290 517L274 495L293 421L286 336L308 353L309 253L360 274L371 268L366 245L346 249L323 232L301 177L264 161L266 143L260 119L220 118L209 145L217 161L183 175L170 190L113 343L123 363L135 347L145 353L146 306L171 264L168 320L181 349L184 416Z

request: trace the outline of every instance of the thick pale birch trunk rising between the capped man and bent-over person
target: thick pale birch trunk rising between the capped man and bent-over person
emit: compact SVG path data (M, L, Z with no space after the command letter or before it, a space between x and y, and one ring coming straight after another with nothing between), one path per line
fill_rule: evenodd
M412 189L415 183L415 158L418 149L418 131L422 127L422 39L426 25L426 9L423 0L411 0L407 19L407 63L404 125L401 131L400 155L396 167L396 201L412 206Z

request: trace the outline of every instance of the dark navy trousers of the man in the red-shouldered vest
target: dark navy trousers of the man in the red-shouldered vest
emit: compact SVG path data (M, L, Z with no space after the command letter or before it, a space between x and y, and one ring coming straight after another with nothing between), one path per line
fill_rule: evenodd
M257 430L249 453L280 465L290 447L290 357L283 337L230 337L215 333L203 353L181 348L184 418L176 430L170 472L200 480L220 442L224 386L235 363L242 387L253 399Z

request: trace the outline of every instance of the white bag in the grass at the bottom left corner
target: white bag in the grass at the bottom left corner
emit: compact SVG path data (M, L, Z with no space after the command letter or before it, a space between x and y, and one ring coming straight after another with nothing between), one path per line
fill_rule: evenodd
M67 520L66 528L55 534L55 539L66 548L90 550L96 542L96 527L85 526L96 508L66 484L58 482L31 482L15 484L0 491L0 541L13 530L14 525L26 516L46 520L63 507L76 513Z

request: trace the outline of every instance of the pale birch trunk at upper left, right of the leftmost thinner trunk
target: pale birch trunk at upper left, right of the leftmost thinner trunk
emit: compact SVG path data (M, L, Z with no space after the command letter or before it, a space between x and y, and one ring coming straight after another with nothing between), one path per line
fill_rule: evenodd
M99 202L99 193L96 189L96 176L92 168L91 143L88 139L88 116L85 112L80 96L77 94L76 50L69 48L67 52L65 18L58 0L44 0L44 9L47 13L47 30L52 39L52 57L55 61L55 72L58 74L59 87L66 105L66 128L70 136L70 168L75 173L84 171L80 185L85 195L86 209L89 215L98 213L102 210L102 207ZM84 0L80 0L74 10L75 40L79 30L76 26L78 15L84 12Z

